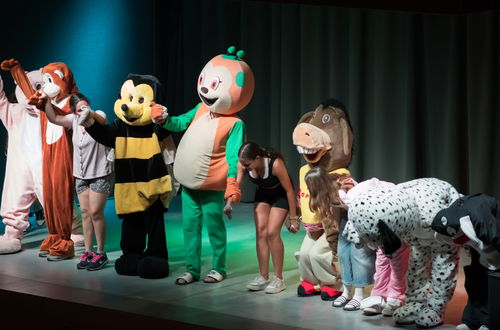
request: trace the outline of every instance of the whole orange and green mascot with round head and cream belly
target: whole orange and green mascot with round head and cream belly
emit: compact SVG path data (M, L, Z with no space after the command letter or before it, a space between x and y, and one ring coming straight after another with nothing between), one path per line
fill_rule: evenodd
M240 199L236 182L238 150L245 137L245 125L236 113L252 98L254 77L241 60L243 51L218 55L203 68L198 78L201 102L180 116L168 116L159 109L155 120L174 132L186 130L174 163L174 176L183 186L182 217L187 271L177 284L200 278L201 228L207 225L213 251L212 270L205 282L223 280L226 259L226 227L223 220L224 198ZM224 194L225 191L225 194Z

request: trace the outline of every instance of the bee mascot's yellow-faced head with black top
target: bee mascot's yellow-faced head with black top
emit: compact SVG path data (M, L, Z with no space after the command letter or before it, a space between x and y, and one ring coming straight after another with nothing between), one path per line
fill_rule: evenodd
M152 102L162 102L160 81L152 75L129 74L115 102L115 114L128 125L149 125Z

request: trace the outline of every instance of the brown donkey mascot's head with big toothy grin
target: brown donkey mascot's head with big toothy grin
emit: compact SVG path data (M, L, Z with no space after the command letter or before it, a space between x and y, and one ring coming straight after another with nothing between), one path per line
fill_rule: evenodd
M348 167L353 134L345 106L335 99L322 102L300 118L293 131L293 144L311 166L328 171Z

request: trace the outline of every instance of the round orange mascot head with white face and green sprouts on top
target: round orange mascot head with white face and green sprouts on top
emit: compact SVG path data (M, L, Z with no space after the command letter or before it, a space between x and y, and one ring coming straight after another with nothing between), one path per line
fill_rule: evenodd
M198 77L198 95L211 112L234 114L252 98L255 87L253 72L242 61L245 52L240 50L234 55L235 50L235 47L229 47L228 54L211 59Z

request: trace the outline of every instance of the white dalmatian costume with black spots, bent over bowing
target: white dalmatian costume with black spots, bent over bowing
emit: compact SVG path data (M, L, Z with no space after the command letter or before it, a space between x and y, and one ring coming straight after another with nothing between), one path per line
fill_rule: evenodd
M435 240L431 224L459 193L447 182L425 178L352 195L343 232L347 239L379 246L386 255L400 247L400 240L410 245L406 305L394 312L396 323L440 325L457 282L459 248Z

